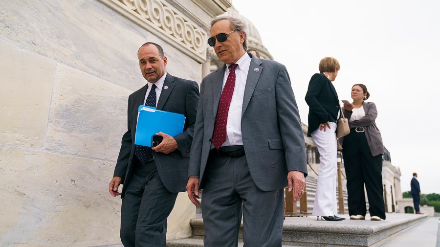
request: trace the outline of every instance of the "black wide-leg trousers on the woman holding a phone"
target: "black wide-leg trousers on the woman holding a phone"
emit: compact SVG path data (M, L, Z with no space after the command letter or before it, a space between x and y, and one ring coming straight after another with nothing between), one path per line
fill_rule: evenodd
M371 216L385 220L385 203L382 185L382 155L373 156L365 133L354 129L344 137L345 173L347 175L348 206L350 215L367 213L364 184L367 189L368 211Z

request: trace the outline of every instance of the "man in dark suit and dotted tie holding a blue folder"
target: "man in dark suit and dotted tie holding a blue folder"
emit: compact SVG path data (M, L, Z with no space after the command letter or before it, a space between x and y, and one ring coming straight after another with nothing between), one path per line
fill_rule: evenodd
M122 198L120 235L124 246L165 247L167 217L178 192L185 191L188 178L198 85L166 72L168 60L160 45L146 43L137 55L147 84L129 96L128 130L122 136L109 191L113 197ZM183 133L176 136L158 133L163 141L154 148L135 145L139 105L184 114Z

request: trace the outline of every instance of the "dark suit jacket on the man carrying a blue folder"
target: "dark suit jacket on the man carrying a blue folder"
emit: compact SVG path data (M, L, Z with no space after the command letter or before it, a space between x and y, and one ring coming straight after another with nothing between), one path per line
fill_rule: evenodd
M129 96L128 130L122 136L121 150L119 151L118 160L113 173L113 176L122 178L125 184L128 183L132 175L137 111L139 105L144 103L147 86L148 85L145 85ZM165 187L173 193L186 191L188 163L191 143L193 141L194 123L196 122L198 95L198 84L195 81L180 79L167 73L156 109L184 114L186 117L185 125L183 127L183 133L173 136L178 145L176 151L168 155L153 152L153 155L160 179ZM121 198L124 197L126 187L127 186L122 187Z

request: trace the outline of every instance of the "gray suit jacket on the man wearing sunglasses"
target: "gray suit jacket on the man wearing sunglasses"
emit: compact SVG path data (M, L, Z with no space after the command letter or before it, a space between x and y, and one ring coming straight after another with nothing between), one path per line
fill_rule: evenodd
M204 185L203 175L225 69L223 65L213 71L200 85L188 170L189 177L200 178L200 189ZM301 120L284 65L252 57L244 90L241 126L250 175L261 190L286 187L288 171L301 171L307 176Z

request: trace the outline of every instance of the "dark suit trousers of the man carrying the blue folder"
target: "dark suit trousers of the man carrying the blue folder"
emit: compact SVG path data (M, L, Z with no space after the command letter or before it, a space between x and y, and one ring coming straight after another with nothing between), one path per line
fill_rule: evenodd
M165 247L167 217L177 193L168 191L155 162L141 164L133 157L132 178L122 199L121 241L124 247Z

